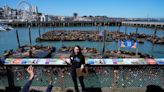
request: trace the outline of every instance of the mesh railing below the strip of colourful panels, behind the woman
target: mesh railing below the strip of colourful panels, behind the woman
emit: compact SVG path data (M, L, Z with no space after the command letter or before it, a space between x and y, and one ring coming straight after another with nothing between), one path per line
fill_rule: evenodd
M14 75L14 84L22 86L28 80L27 66L0 66L0 86L8 86L7 69ZM54 87L73 87L68 66L34 66L36 75L32 86L47 86L49 77ZM86 87L146 87L164 86L164 66L87 66Z

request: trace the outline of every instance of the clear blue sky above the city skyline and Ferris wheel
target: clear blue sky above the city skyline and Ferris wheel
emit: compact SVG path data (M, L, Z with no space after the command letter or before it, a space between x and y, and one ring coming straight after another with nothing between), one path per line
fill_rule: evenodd
M17 7L22 0L0 0ZM39 12L49 15L109 16L123 18L164 18L164 0L27 0Z

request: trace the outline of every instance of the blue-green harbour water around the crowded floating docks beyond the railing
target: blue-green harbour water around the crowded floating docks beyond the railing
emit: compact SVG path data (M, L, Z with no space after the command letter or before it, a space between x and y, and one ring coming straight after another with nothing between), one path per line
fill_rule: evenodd
M19 34L19 39L20 39L20 44L29 45L29 37L28 37L28 28L15 28L18 30ZM53 27L45 27L41 28L41 34L51 31L51 30L97 30L97 27L58 27L58 28L53 28ZM101 27L100 30L106 29L106 27ZM109 31L116 31L118 27L107 27ZM147 29L147 28L139 28L138 33L144 33L148 35L153 35L155 29ZM120 28L121 32L125 33L125 27ZM127 33L133 33L136 31L135 27L128 27L127 28ZM157 31L157 36L159 37L164 37L164 30L158 30ZM31 37L32 37L32 45L43 45L43 46L54 46L57 49L59 49L62 45L65 46L74 46L74 45L80 45L81 47L94 47L97 48L98 50L102 50L102 43L101 42L35 42L35 39L39 37L39 32L37 27L32 27L31 28ZM15 30L9 31L9 32L0 32L0 53L2 54L4 50L10 50L10 49L16 49L18 47L17 44L17 39L16 39L16 32ZM116 42L107 42L106 43L106 50L116 50ZM127 50L127 49L122 49L122 50ZM135 52L134 49L128 49L129 51ZM164 57L164 44L152 44L151 42L145 41L144 44L139 44L139 52L145 53L152 55L156 58L162 58Z

